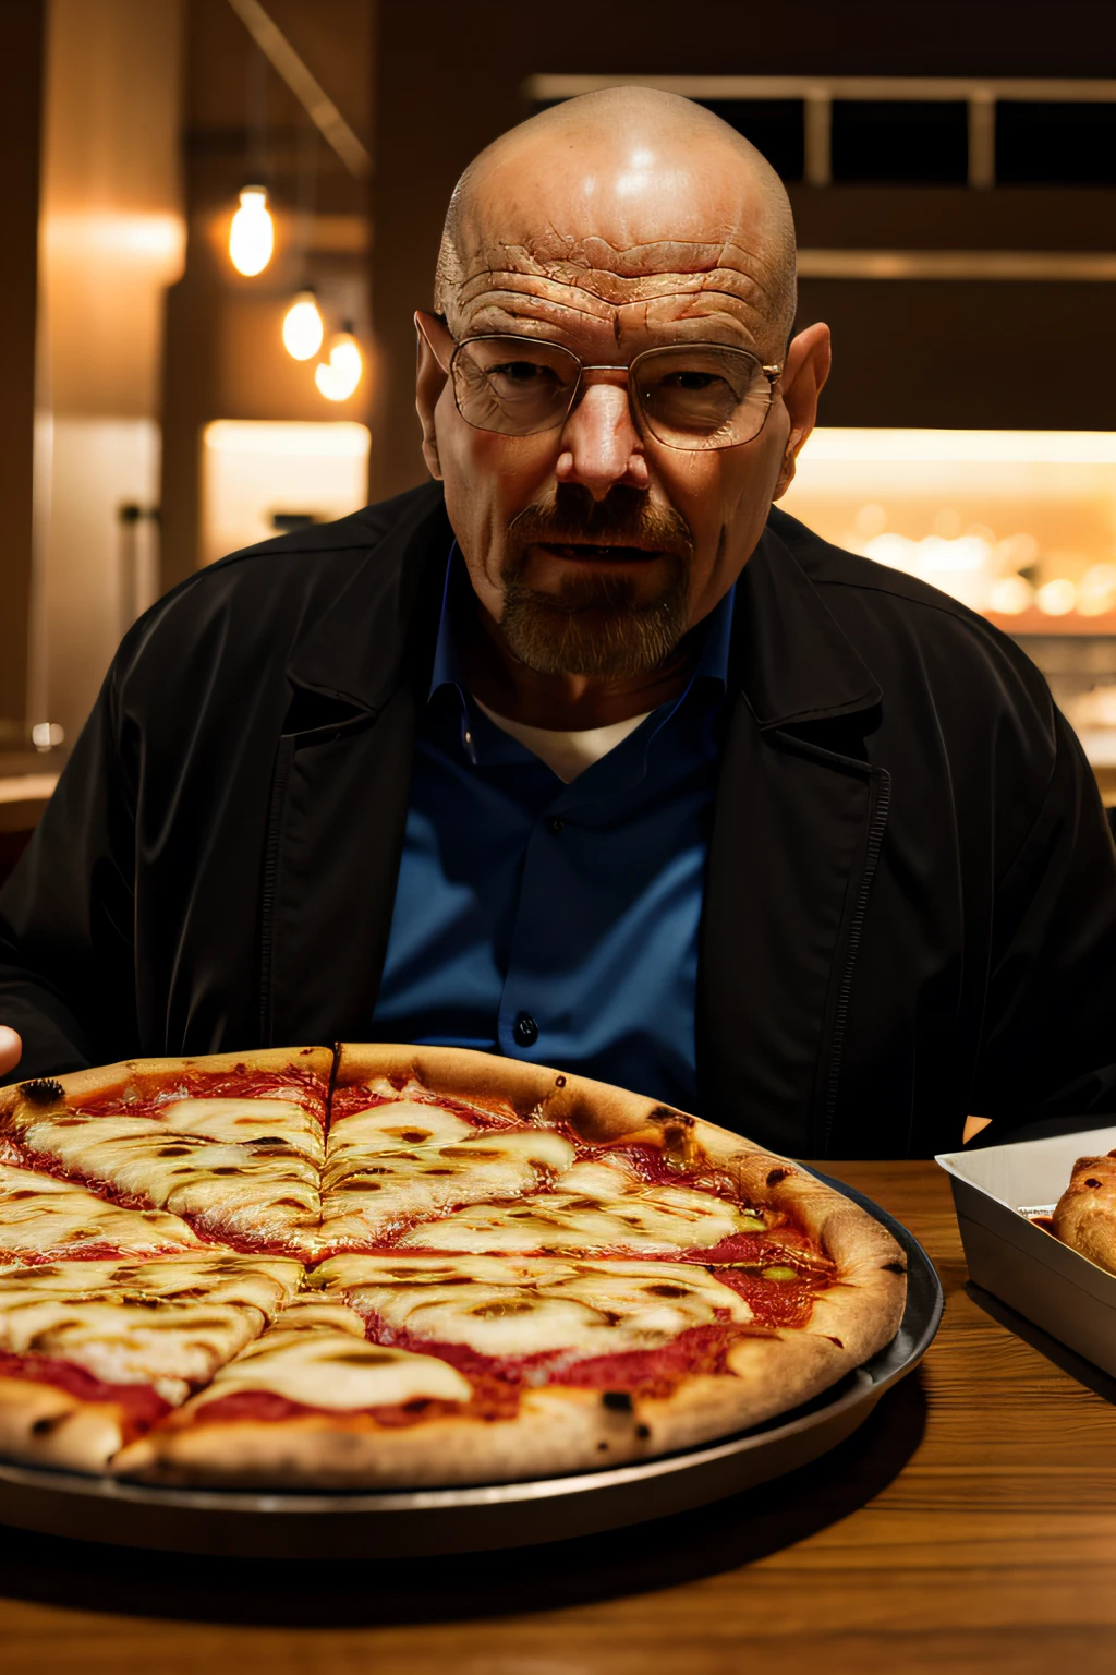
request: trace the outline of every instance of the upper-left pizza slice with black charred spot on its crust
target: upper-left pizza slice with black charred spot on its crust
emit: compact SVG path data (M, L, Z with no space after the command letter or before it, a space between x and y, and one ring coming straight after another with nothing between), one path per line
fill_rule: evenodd
M37 1169L253 1250L315 1250L326 1049L149 1059L22 1082L0 1131Z

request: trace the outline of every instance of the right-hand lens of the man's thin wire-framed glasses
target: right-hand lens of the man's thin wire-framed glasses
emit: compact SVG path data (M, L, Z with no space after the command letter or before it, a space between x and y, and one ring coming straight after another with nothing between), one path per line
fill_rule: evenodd
M651 348L632 365L648 429L669 447L736 447L763 429L771 385L743 348Z

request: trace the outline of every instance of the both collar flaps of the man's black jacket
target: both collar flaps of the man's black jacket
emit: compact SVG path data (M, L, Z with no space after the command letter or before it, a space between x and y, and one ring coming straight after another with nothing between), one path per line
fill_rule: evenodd
M793 521L773 511L736 583L729 688L743 692L765 730L873 709L882 702L875 677L781 539L780 524ZM453 541L442 489L432 482L402 494L376 508L368 524L353 519L346 539L365 551L293 648L288 677L294 687L371 712L405 682L422 700Z

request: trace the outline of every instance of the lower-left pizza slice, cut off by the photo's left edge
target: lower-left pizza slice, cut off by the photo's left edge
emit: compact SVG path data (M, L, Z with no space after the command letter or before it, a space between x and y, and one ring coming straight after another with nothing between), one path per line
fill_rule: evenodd
M0 1452L102 1471L258 1337L289 1258L194 1251L0 1270Z

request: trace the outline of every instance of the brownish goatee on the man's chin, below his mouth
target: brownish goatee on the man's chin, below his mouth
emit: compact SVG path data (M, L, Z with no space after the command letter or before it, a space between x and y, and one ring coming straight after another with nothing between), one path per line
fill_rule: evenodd
M559 593L537 593L505 573L500 633L539 675L649 675L686 633L688 568L671 558L666 586L649 601L636 600L627 576L564 576Z

